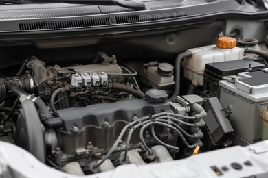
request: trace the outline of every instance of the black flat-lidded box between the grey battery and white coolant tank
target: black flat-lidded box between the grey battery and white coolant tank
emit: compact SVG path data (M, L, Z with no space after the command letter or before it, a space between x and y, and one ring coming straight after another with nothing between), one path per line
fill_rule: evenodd
M216 97L219 98L220 88L218 84L223 77L257 68L265 68L265 65L249 59L206 64L203 74L203 90L209 90L209 93L216 92Z

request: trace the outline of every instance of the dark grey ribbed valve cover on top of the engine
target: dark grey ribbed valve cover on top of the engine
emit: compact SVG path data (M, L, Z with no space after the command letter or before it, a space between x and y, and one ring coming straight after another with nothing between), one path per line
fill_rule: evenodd
M137 99L58 110L58 116L63 120L63 129L57 131L59 147L69 154L76 153L88 142L94 147L109 149L127 123L142 116L175 112L171 108L168 101L150 103ZM185 108L181 107L180 114L185 113ZM135 136L133 138L132 142L139 141Z

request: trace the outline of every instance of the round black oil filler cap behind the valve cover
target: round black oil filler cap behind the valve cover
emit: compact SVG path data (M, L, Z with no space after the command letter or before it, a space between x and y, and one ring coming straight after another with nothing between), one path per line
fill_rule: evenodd
M150 89L145 92L145 99L150 103L160 103L168 99L168 94L164 90Z

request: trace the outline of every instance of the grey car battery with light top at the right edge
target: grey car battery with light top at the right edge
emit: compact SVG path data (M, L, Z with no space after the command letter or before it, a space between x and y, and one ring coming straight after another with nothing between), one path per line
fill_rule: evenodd
M231 105L234 134L249 144L262 139L261 113L268 106L268 68L238 73L234 82L219 81L220 103Z

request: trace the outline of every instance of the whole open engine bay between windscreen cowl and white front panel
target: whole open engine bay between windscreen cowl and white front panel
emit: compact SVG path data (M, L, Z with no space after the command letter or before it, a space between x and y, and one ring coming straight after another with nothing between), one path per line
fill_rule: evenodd
M221 18L2 40L0 141L93 175L267 140L266 29Z

